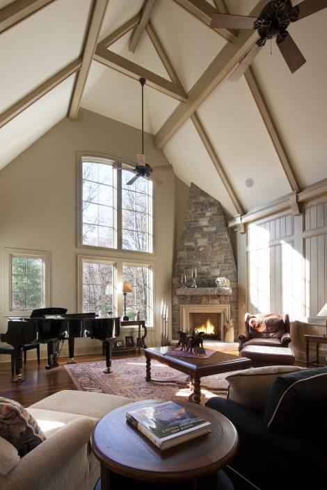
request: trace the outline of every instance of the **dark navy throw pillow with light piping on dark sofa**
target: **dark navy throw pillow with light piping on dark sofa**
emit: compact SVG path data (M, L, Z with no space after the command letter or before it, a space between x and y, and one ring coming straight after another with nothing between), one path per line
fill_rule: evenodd
M264 423L274 432L312 431L327 413L327 368L308 368L276 377L264 410Z

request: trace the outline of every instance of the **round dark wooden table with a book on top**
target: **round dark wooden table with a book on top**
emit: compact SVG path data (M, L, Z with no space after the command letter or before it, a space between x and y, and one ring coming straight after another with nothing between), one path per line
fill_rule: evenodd
M239 439L234 425L216 410L180 402L182 407L211 422L211 432L161 451L127 422L126 412L163 401L166 400L130 403L99 420L91 436L91 446L101 464L102 490L125 485L132 489L160 490L170 487L173 490L176 483L179 489L224 488L217 484L217 472L229 464L237 453ZM188 487L187 482L190 482Z

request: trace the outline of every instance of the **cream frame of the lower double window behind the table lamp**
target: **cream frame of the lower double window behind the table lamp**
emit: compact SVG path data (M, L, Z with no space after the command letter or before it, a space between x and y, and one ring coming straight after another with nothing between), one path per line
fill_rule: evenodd
M134 266L134 267L147 267L149 268L149 318L147 319L147 328L153 328L154 325L154 262L132 260L123 257L120 254L119 257L104 257L104 256L91 256L91 255L79 255L78 256L78 306L79 311L83 312L83 263L93 262L93 263L107 263L113 265L113 279L114 284L114 295L113 295L113 306L115 311L118 311L117 316L121 317L124 315L124 296L122 293L118 292L120 283L122 283L122 266ZM95 313L98 314L96 311ZM137 326L124 326L124 330L138 329Z

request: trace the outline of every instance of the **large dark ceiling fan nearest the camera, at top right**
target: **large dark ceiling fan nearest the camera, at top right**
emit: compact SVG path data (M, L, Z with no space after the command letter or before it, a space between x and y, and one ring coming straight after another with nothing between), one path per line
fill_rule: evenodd
M305 58L296 46L287 27L308 15L312 15L327 7L327 0L303 0L292 6L290 0L271 0L262 9L259 17L246 17L244 15L230 15L217 13L212 16L212 28L248 28L256 29L259 39L253 44L248 53L240 61L236 70L229 77L230 81L237 81L244 74L266 40L276 38L276 44L282 54L289 70L296 72L305 63Z

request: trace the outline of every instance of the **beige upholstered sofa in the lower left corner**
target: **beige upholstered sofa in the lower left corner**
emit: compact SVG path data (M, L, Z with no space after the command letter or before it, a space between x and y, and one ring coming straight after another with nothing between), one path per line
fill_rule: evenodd
M130 398L63 390L27 407L47 439L0 473L1 490L93 490L100 476L99 462L90 449L95 423ZM0 455L8 450L0 437ZM11 446L11 445L9 445Z

